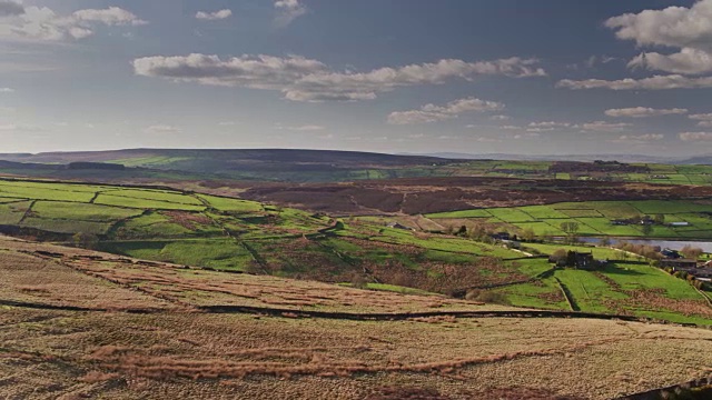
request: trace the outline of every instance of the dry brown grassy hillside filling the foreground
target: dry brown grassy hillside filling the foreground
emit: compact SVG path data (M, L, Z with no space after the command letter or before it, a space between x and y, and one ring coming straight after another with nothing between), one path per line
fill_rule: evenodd
M702 329L0 249L9 398L610 399L712 362Z

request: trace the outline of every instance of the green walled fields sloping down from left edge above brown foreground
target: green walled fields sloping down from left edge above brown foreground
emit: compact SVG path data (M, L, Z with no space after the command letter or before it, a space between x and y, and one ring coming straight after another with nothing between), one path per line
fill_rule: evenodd
M451 292L535 274L521 254L472 240L342 221L235 198L160 189L0 181L0 222L28 237L96 237L118 254L326 282ZM7 197L6 197L7 196ZM80 244L87 241L80 240ZM83 240L83 241L82 241Z

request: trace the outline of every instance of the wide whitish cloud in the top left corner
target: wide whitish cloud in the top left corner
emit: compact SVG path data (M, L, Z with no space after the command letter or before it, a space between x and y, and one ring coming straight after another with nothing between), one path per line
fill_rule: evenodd
M78 10L69 16L59 16L47 7L27 7L23 11L0 26L0 36L42 41L77 40L92 36L98 26L147 23L118 7Z

